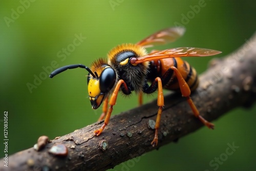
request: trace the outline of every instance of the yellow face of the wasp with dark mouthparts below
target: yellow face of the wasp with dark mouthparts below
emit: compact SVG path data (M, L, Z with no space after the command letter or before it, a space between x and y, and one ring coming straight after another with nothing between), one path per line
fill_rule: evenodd
M99 79L91 78L88 83L89 99L93 109L97 109L102 103L105 94L101 93L99 86Z

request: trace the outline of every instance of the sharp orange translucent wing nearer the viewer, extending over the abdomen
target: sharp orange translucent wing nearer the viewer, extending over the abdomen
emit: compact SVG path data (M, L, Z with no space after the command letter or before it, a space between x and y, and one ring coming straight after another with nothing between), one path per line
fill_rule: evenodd
M145 56L131 59L132 63L141 63L150 60L172 58L172 57L187 57L187 56L212 56L221 53L220 51L203 49L203 48L174 48L162 51L153 52Z

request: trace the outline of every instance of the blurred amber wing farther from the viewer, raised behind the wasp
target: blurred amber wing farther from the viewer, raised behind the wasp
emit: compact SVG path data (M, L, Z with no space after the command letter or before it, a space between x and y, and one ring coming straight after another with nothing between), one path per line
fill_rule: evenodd
M150 48L155 45L164 45L169 42L174 42L179 37L181 37L185 32L183 27L171 27L161 31L158 31L151 36L146 37L145 39L137 42L137 45L144 48Z

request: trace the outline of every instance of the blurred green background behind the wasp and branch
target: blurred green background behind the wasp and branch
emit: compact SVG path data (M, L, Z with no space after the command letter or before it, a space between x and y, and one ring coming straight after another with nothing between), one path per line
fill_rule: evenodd
M101 108L91 109L87 72L77 69L50 79L43 67L51 70L52 62L54 67L89 66L116 45L138 42L175 23L186 27L185 35L160 50L201 47L220 50L222 57L239 48L256 30L256 1L206 0L197 13L191 6L202 0L21 2L0 3L0 126L3 130L4 111L8 111L9 155L33 146L41 135L54 139L94 123L101 114ZM27 8L20 7L22 4ZM190 19L183 20L187 14ZM86 39L73 46L75 35ZM67 48L70 51L65 55L62 50ZM199 73L206 70L210 59L186 58ZM37 86L35 77L42 78ZM28 83L36 88L29 90ZM119 96L113 114L135 106L135 95L130 99ZM124 162L114 170L255 170L255 111L255 105L250 110L233 110L214 121L215 131L203 127L176 144L145 154L139 162ZM1 134L3 144L3 131ZM227 144L233 142L239 146L236 152L221 164L214 161L209 165L211 160L224 157ZM1 148L3 157L3 145Z

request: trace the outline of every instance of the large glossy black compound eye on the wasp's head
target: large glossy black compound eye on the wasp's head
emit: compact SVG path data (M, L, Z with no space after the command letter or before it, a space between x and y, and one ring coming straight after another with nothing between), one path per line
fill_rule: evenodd
M116 82L116 72L113 68L105 68L99 77L99 88L103 93L109 92Z

